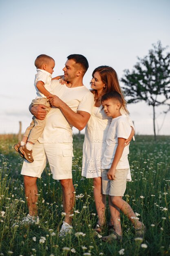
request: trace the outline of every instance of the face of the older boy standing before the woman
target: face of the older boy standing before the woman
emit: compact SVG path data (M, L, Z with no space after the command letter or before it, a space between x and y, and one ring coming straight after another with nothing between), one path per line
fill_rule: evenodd
M106 101L102 101L102 106L104 107L104 112L108 117L119 117L120 114L120 106L121 104L115 99L108 99Z

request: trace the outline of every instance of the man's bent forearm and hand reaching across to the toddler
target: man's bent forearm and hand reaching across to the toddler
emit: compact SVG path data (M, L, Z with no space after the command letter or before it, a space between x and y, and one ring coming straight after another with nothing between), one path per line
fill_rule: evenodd
M64 101L62 101L59 97L55 95L49 95L47 99L49 99L52 106L60 108L64 117L72 126L77 128L78 130L84 129L89 118L91 117L88 112L77 111L77 113L75 113L70 107L68 107L66 103L64 103Z

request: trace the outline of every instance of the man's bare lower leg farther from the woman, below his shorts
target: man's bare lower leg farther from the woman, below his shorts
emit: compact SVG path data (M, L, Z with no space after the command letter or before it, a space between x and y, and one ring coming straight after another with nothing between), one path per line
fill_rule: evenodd
M29 215L30 216L37 216L37 204L38 201L38 189L37 189L37 177L30 177L24 175L24 189L25 189L25 196L26 201L28 204Z

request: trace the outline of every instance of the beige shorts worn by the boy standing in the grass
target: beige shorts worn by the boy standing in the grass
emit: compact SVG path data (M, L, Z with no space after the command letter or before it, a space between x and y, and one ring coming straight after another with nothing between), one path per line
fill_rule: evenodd
M108 180L109 169L102 169L102 191L104 195L124 196L129 169L116 169L115 180Z

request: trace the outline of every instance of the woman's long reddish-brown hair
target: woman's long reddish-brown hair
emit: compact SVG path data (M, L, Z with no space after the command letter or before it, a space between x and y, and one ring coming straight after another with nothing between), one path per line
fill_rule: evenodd
M106 92L111 92L111 91L119 92L119 94L121 95L121 98L122 98L122 107L124 108L124 110L127 113L129 113L126 108L127 103L124 99L124 93L120 88L118 76L117 76L116 71L113 69L113 67L109 67L109 66L96 67L92 73L93 77L94 77L95 72L99 72L101 80L105 84L105 87L103 88L102 95L104 95ZM93 92L94 97L97 100L98 99L97 90L93 89L93 90L91 90L91 92Z

